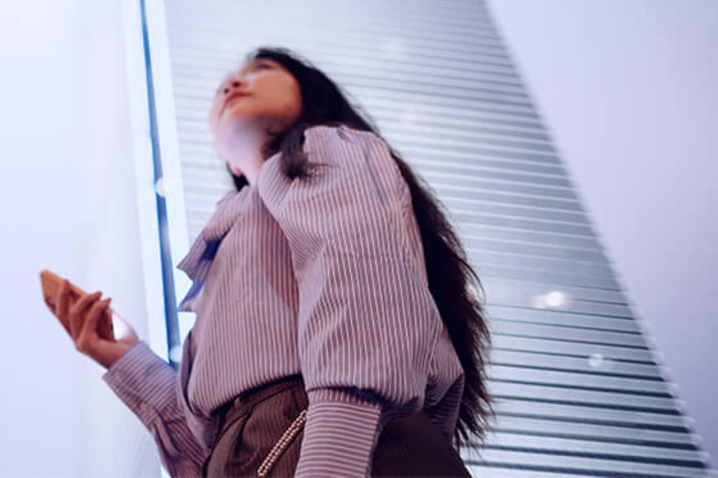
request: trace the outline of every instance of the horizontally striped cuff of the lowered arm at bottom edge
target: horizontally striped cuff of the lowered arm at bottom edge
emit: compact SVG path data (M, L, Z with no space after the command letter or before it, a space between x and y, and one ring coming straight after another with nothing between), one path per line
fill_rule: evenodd
M312 390L307 397L307 422L294 476L368 476L381 434L381 403L336 388Z

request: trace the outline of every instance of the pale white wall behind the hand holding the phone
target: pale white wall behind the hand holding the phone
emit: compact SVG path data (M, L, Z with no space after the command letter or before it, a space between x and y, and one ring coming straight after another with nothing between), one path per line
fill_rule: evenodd
M102 290L147 339L121 13L90 0L1 9L2 476L159 476L149 432L75 350L38 275Z

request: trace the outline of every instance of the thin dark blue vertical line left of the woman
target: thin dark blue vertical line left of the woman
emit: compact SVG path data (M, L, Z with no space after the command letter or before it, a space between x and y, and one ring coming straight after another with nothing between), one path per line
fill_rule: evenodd
M154 167L154 183L162 178L162 154L159 148L157 131L157 107L154 100L154 81L152 79L152 59L149 48L149 31L144 0L139 1L142 18L142 44L144 46L144 65L147 80L147 101L149 102L149 133L152 142L152 165ZM162 291L164 295L164 321L167 327L167 359L175 371L179 363L172 360L172 350L180 345L180 322L177 318L177 300L172 277L172 250L169 247L169 228L167 226L167 203L164 197L155 190L157 200L157 221L159 222L159 252L162 264ZM154 320L154 317L149 317Z

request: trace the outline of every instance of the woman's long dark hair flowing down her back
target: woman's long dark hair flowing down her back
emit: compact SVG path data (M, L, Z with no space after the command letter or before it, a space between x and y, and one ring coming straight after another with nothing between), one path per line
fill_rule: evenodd
M282 133L270 133L271 139L262 151L265 159L281 151L281 168L289 178L309 175L307 156L302 151L304 130L307 128L314 125L347 125L356 130L371 131L381 138L378 128L365 119L369 115L360 115L340 87L306 59L286 48L260 47L247 55L246 62L258 58L273 59L281 64L301 88L302 113L297 122ZM472 435L483 441L489 420L495 416L485 375L490 349L483 308L485 292L432 189L386 144L411 191L411 202L424 244L429 290L464 369L465 385L453 437L454 446L479 446L480 443L472 439ZM248 184L245 176L234 175L228 165L227 169L238 191ZM482 295L480 299L479 291Z

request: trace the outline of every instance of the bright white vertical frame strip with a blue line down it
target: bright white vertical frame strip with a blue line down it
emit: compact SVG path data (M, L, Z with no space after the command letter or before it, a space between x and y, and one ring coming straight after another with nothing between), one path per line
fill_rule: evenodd
M174 267L189 244L164 3L122 5L149 345L177 370L177 296L191 281Z

